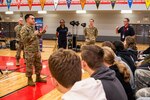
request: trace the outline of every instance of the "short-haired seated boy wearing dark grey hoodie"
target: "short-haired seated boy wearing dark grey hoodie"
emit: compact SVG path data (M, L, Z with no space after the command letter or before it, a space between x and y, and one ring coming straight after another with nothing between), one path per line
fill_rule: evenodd
M107 100L128 100L115 72L103 64L103 56L104 51L101 47L96 45L83 46L81 48L82 68L91 77L101 80Z

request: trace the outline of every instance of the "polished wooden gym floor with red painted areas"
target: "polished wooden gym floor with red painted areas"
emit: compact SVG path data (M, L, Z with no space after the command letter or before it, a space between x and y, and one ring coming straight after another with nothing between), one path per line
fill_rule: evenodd
M26 86L25 65L24 60L20 60L20 67L16 67L15 55L16 51L10 49L0 49L0 69L6 73L6 67L9 70L6 77L0 75L0 100L60 100L59 93L53 86L50 80L50 72L48 69L47 59L52 54L56 41L44 40L42 54L42 75L46 76L47 83L36 83L35 87ZM83 44L83 42L79 42ZM96 43L101 46L101 43ZM138 44L139 50L144 50L148 44ZM78 53L80 55L80 53ZM15 78L14 78L15 77ZM83 78L89 77L84 72Z

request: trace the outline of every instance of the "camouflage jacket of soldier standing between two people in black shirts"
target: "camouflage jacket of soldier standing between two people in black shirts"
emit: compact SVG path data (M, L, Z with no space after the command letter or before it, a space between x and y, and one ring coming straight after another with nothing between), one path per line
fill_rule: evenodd
M98 30L96 27L93 28L85 28L84 29L85 41L95 41L96 37L98 36Z

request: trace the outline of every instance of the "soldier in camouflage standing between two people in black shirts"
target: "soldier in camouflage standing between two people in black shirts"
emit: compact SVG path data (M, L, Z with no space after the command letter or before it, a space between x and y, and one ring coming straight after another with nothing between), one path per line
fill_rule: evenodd
M89 28L84 29L84 35L85 35L85 44L86 45L95 44L96 38L98 36L98 30L96 27L94 27L93 19L90 19Z

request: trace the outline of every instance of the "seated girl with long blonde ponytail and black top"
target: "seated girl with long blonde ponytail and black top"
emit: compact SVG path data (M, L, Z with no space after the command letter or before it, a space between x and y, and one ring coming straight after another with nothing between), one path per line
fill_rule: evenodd
M128 100L135 100L130 81L130 72L123 63L115 61L115 53L109 47L103 47L104 50L104 64L116 72L116 77L123 85Z

